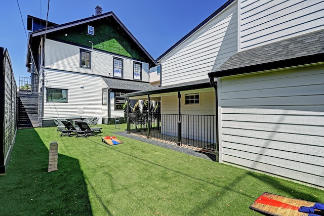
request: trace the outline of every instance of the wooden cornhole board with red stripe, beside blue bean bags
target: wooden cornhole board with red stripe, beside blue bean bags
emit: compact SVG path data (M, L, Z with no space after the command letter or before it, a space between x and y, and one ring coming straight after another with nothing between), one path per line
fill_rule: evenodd
M315 205L315 202L264 192L250 205L250 208L265 215L307 216L308 213L298 211L299 207L311 207L313 205Z

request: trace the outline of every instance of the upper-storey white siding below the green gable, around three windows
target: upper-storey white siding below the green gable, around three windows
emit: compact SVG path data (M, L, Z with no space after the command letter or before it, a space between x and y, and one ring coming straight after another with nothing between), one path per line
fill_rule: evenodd
M96 74L101 76L113 76L113 57L123 59L123 78L133 80L133 63L142 64L142 81L148 82L149 65L126 57L113 56L97 50L85 49L91 52L91 69L80 67L80 47L65 44L55 40L46 39L45 67L49 69L72 71L79 73Z

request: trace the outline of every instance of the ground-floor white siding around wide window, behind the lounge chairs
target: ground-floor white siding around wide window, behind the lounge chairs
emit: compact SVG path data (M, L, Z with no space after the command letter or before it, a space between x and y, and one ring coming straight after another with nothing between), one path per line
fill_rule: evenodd
M45 74L45 88L67 89L68 99L67 103L45 100L44 118L102 116L100 76L52 70L46 70Z

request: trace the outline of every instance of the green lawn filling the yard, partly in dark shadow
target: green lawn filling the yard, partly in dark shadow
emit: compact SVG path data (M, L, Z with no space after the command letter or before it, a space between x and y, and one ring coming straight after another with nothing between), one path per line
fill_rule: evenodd
M60 137L56 128L19 129L0 215L261 215L249 209L264 191L324 202L324 191L117 136L102 125L89 138ZM48 172L58 141L58 170Z

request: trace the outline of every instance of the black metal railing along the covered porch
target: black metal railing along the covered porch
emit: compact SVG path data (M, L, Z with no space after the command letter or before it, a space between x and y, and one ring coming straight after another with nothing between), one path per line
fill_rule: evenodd
M129 113L129 132L185 144L201 149L216 150L215 115ZM179 133L179 128L180 132Z

